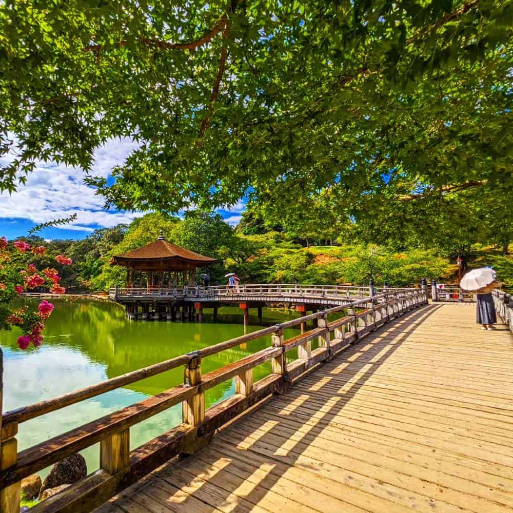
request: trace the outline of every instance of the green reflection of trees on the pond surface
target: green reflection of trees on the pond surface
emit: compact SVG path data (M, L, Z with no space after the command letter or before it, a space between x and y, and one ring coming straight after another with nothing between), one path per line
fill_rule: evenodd
M33 301L33 300L31 300ZM34 301L35 302L35 301ZM89 360L105 367L107 378L162 362L181 354L201 349L243 334L241 323L180 323L137 322L125 319L120 305L88 300L55 300L55 310L45 329L47 346L66 345L81 351ZM238 308L223 308L223 317L233 320L239 316ZM290 319L290 315L277 310L266 312L267 318ZM281 319L278 319L281 317ZM295 317L295 315L294 315ZM242 317L241 317L242 320ZM207 317L208 321L208 317ZM251 326L251 330L259 329ZM8 334L8 345L16 347L19 333ZM288 336L293 336L292 330ZM223 365L244 358L271 344L270 337L251 341L208 357L202 362L202 372L207 373ZM270 364L254 371L255 381L270 372ZM144 394L156 394L183 382L183 368L133 383L127 388ZM207 404L219 401L233 389L231 381L207 392Z

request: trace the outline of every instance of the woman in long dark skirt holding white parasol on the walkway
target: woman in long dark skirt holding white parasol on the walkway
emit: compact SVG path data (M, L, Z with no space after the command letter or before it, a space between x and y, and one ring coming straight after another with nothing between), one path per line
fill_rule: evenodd
M467 272L460 282L462 289L477 294L477 323L482 325L481 329L495 329L497 314L491 292L502 285L496 278L497 273L494 269L481 267Z

